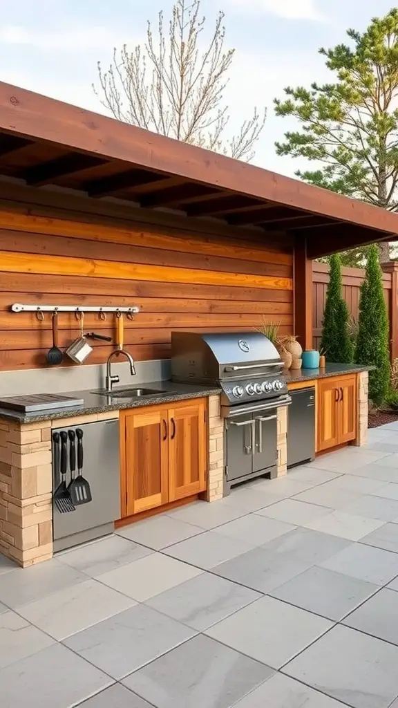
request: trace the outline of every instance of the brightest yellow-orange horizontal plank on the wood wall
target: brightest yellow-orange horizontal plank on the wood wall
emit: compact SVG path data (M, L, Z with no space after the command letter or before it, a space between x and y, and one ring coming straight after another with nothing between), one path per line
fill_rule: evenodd
M120 280L157 280L188 282L199 285L238 285L292 290L291 278L246 273L220 273L211 270L166 268L162 265L137 265L120 261L101 261L64 256L42 256L0 251L0 269L8 273L37 275L86 275L88 278L120 278Z

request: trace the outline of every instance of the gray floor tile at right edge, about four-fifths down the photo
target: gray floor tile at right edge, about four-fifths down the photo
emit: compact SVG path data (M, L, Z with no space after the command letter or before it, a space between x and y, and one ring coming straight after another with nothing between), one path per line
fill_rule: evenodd
M356 543L320 565L336 573L345 573L382 586L398 575L398 554Z

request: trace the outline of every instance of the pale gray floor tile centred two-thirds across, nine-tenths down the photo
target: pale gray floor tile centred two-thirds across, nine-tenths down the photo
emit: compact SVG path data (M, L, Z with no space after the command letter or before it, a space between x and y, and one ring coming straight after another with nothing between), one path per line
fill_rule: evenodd
M223 619L205 634L272 668L280 668L332 626L324 617L266 597Z

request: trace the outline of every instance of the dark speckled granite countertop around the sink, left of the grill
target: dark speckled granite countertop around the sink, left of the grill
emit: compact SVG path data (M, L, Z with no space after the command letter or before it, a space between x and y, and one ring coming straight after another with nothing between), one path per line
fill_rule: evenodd
M114 392L130 386L115 387ZM106 413L126 408L139 408L140 406L154 406L160 403L173 403L188 399L213 396L221 393L220 387L195 386L191 384L176 384L171 381L151 381L136 384L132 389L155 389L153 396L138 396L132 398L117 398L100 394L98 391L68 391L65 396L84 399L81 406L53 409L51 411L36 411L35 413L21 413L11 409L0 408L0 418L6 418L18 423L34 423L35 421L49 421L57 418L70 418L71 416L89 416L91 413ZM62 395L62 394L59 394Z

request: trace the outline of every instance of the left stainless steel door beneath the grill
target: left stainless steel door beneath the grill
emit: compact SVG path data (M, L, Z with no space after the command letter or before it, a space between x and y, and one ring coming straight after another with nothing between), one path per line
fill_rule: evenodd
M227 481L251 474L254 447L252 413L227 420Z

